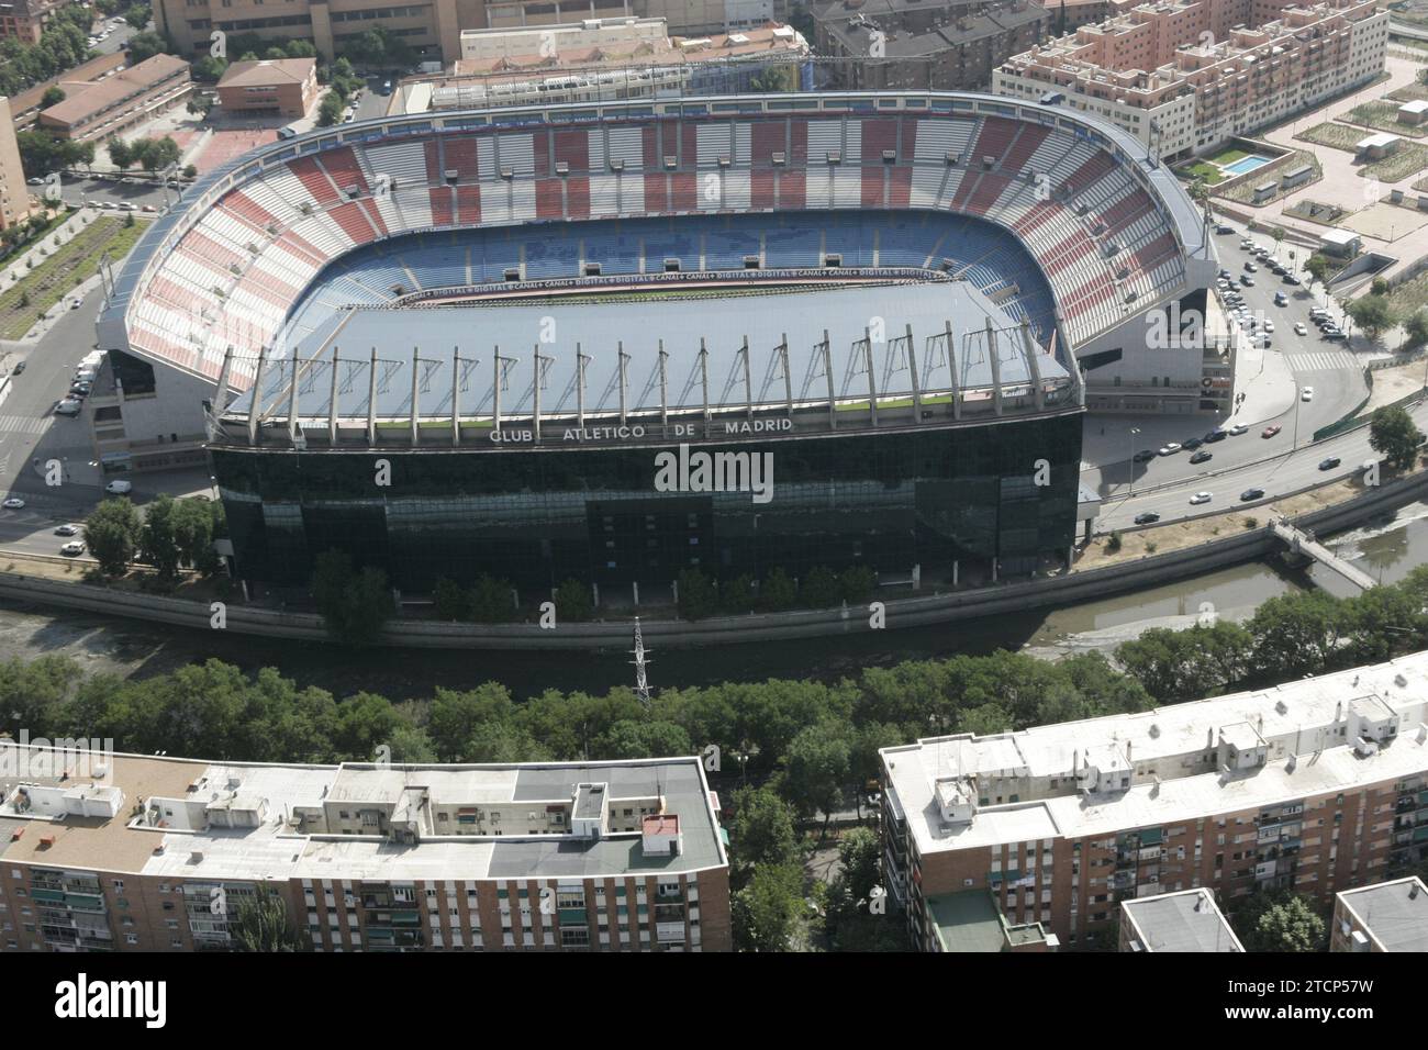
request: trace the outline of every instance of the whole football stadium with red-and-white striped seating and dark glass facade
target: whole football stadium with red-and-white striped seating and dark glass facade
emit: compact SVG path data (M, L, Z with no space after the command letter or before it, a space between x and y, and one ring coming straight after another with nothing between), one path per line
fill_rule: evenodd
M146 233L96 436L206 449L268 584L1024 577L1070 559L1084 373L1198 377L1145 319L1204 306L1205 233L1130 136L991 96L347 124Z

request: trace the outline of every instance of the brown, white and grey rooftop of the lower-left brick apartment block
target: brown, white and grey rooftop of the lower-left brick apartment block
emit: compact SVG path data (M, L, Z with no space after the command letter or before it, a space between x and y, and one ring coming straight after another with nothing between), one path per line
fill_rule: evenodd
M0 856L11 861L171 877L526 879L698 871L727 863L711 793L697 757L614 763L341 766L206 763L103 754L93 779L70 776L47 749L0 741ZM53 769L51 769L53 767ZM93 781L93 783L91 783ZM96 786L97 784L97 786ZM577 786L600 833L571 833ZM23 789L23 790L21 790ZM76 790L80 789L80 790ZM621 806L620 803L624 803ZM41 809L49 806L49 810ZM54 813L69 806L69 813ZM109 813L80 814L80 807ZM640 806L678 820L681 849L645 856ZM454 816L504 811L507 831L454 833ZM530 810L530 813L527 813ZM383 813L401 839L363 821ZM531 820L527 820L530 817ZM221 823L220 823L221 821ZM231 821L231 826L224 826ZM248 823L243 823L248 821Z

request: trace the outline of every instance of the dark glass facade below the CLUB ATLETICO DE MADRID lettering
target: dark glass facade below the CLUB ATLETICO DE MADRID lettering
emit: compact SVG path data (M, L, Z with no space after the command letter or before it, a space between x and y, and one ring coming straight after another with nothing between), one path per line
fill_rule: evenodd
M237 574L273 584L306 584L334 547L417 591L483 573L521 587L665 584L687 567L763 579L774 567L918 564L930 581L957 563L962 579L994 566L1005 579L1064 561L1075 533L1077 411L688 450L767 454L767 501L697 483L657 489L665 450L678 454L210 449Z

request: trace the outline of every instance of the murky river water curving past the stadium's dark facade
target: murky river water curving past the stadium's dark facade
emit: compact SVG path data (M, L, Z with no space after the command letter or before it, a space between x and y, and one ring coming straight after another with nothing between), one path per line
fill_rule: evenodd
M1331 537L1329 546L1384 583L1399 580L1428 561L1428 503L1405 507L1392 520ZM1244 620L1265 599L1304 590L1321 579L1331 593L1347 593L1347 584L1318 567L1288 570L1275 564L1247 564L1137 594L941 627L655 651L650 680L655 687L698 686L730 679L831 680L868 666L955 653L990 653L998 647L1025 649L1048 659L1090 649L1108 651L1147 627L1187 627L1207 603L1221 617ZM351 651L0 604L0 657L34 659L44 653L64 653L90 670L124 676L160 674L213 656L246 670L280 667L300 684L318 684L338 696L366 689L394 700L430 696L437 686L460 689L493 679L510 686L517 696L545 689L603 693L633 679L630 654L624 651L493 654L417 650L393 659L388 650Z

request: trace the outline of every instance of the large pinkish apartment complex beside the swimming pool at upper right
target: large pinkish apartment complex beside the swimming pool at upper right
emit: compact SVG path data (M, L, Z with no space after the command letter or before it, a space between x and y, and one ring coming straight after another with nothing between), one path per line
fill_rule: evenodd
M1012 56L992 91L1064 96L1167 160L1218 149L1382 73L1378 0L1165 0Z

